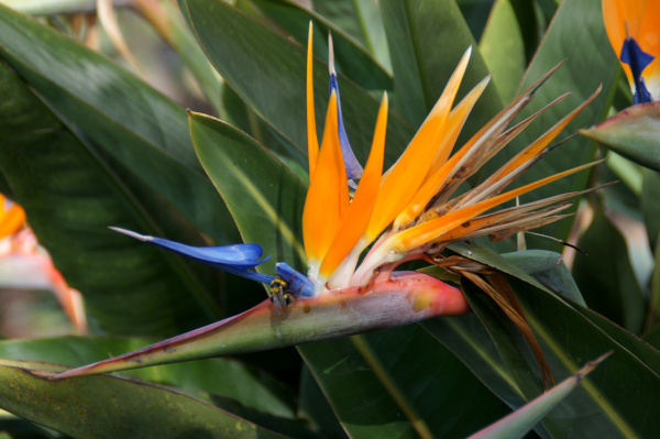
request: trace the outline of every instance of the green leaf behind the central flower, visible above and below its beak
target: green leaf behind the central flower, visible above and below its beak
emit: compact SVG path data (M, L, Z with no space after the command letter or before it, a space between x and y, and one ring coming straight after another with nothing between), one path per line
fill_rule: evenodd
M277 261L302 270L299 237L305 185L263 146L235 129L196 113L190 123L200 161L245 240L261 242ZM414 437L424 431L462 437L504 413L503 406L455 358L417 327L298 350L353 437ZM451 372L436 375L438 364ZM428 381L431 373L436 376L432 386ZM470 395L490 400L493 411L472 415L471 402L477 396L461 397L459 402L459 396L454 397L460 389L453 387L453 374L462 376L461 388L469 389ZM364 385L366 382L369 386ZM360 397L354 396L355 392ZM438 397L442 392L449 393ZM365 398L370 402L366 405ZM438 413L454 413L462 422L439 422Z

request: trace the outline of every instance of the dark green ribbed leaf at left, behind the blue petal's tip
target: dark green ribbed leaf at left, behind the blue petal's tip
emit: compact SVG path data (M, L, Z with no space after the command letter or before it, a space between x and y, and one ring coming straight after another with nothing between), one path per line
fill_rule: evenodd
M207 310L213 301L180 260L107 229L160 230L107 162L3 64L0 76L0 169L92 323L163 336L208 321L195 297Z

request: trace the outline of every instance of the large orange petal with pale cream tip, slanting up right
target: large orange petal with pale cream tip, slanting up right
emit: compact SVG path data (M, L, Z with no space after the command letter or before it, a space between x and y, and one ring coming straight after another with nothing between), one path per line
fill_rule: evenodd
M402 212L422 184L440 147L443 128L468 67L470 54L471 48L463 55L442 96L404 154L383 177L374 215L365 231L367 241L374 240Z

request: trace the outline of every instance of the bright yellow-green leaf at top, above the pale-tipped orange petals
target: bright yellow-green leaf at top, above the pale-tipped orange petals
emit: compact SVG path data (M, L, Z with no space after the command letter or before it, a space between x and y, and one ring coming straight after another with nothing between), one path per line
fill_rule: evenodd
M502 99L514 99L527 62L522 32L509 0L498 0L493 4L479 50L493 72L493 83Z

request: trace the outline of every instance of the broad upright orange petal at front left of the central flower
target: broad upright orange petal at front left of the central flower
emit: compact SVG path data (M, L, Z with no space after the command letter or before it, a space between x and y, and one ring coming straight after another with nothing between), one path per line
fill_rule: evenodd
M328 103L323 140L302 212L302 238L310 268L328 252L348 210L349 185L339 143L337 95Z

